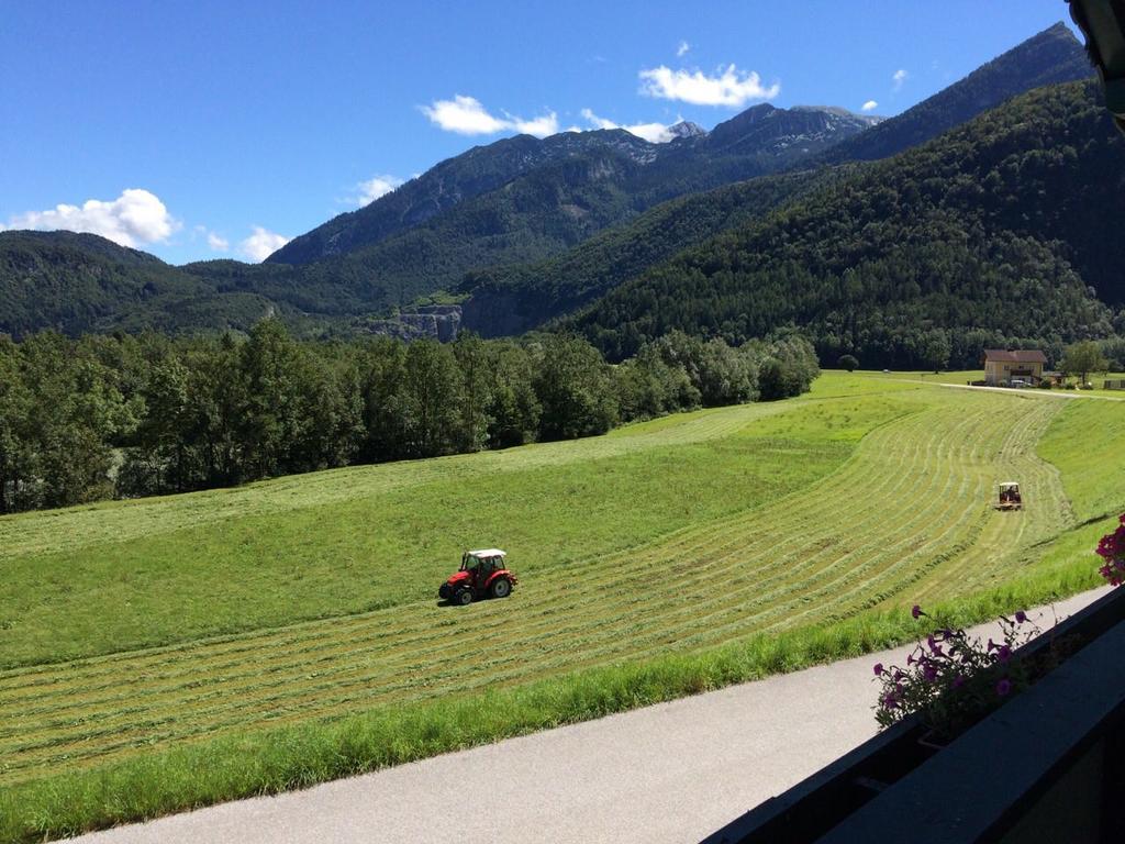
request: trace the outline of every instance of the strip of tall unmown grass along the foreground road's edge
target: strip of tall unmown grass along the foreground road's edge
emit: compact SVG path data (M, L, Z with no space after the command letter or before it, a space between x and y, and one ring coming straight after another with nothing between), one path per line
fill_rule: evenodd
M1089 559L1060 559L973 596L927 608L969 625L1099 584ZM692 655L574 672L472 697L429 700L181 745L0 792L0 842L34 842L225 800L306 788L565 724L880 650L915 639L902 609L746 639ZM874 691L873 691L874 694ZM874 700L874 698L872 698Z

